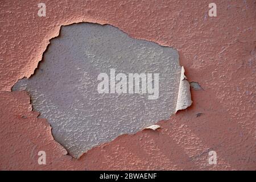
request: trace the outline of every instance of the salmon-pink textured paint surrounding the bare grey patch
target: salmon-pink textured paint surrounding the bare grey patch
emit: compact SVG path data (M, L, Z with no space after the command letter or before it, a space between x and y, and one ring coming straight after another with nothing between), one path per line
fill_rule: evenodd
M1 1L1 169L256 169L255 1ZM29 96L10 91L34 73L60 26L108 23L133 38L179 51L193 91L193 105L158 131L122 135L94 147L79 160L65 155L45 119L31 111ZM203 113L197 117L198 113ZM26 117L23 117L26 115ZM47 164L38 165L38 151ZM217 165L208 164L208 151Z

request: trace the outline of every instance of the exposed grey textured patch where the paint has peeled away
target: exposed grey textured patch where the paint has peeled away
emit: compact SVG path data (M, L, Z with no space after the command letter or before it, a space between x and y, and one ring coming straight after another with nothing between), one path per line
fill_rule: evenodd
M97 80L101 73L108 80ZM118 78L119 73L126 77ZM131 80L130 73L146 74L146 80ZM12 90L29 93L33 109L51 124L53 137L79 158L98 144L170 118L183 83L180 77L175 49L130 38L113 26L78 23L61 27L60 36L51 40L34 75L19 80ZM112 78L114 88L126 82L122 84L126 93L110 93ZM108 85L106 93L98 93L102 82ZM146 82L143 88L142 82ZM130 86L137 84L146 93L131 93ZM154 92L148 93L150 89ZM187 89L185 93L181 90L179 97L190 96L189 86Z

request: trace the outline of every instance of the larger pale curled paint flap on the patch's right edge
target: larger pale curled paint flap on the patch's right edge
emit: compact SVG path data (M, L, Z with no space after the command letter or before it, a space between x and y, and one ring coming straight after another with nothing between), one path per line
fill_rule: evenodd
M177 113L178 110L186 109L192 104L190 84L184 73L185 73L185 69L184 67L181 67L179 93L177 97L175 113Z

